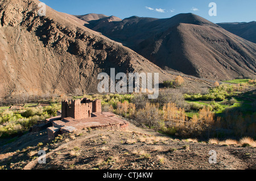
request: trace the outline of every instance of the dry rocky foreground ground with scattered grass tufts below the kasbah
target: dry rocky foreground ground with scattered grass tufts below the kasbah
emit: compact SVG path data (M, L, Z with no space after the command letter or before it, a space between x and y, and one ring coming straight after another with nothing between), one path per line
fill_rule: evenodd
M38 151L46 151L46 164ZM217 163L209 163L209 151ZM28 133L2 146L2 169L245 170L255 169L255 148L210 145L167 137L130 125L126 131L84 130L48 141L47 132Z

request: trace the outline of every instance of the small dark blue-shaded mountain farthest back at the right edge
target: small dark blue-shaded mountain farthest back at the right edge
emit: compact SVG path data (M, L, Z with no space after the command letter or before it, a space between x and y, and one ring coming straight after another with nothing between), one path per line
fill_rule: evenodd
M256 43L256 22L249 23L218 23L226 31Z

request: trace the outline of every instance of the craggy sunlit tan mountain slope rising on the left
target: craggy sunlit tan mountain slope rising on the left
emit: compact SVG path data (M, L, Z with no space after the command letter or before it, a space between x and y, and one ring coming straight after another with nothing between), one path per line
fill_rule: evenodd
M52 10L38 16L39 1L0 1L0 93L96 92L97 75L159 72L158 66L84 26L80 19Z

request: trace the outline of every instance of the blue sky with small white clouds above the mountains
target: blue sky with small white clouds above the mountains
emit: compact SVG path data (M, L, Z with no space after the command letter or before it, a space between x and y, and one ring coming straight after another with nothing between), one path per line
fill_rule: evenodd
M42 0L53 9L73 15L89 13L114 15L121 19L136 15L170 18L192 12L214 23L256 20L256 0ZM217 5L217 16L209 16L210 2Z

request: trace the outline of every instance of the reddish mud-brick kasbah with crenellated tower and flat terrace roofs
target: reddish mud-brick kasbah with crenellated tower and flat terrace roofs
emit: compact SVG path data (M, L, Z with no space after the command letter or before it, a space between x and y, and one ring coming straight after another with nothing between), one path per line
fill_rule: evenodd
M112 112L102 112L101 100L98 99L65 100L61 102L61 111L58 113L58 116L44 120L31 131L38 132L47 128L48 138L53 139L59 134L87 128L127 129L129 125Z

